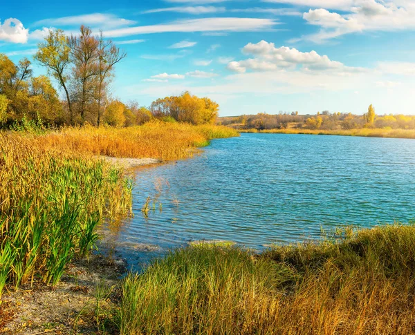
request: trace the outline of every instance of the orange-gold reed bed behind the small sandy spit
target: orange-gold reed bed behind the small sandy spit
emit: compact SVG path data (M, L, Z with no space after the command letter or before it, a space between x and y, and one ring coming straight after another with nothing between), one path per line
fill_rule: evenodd
M85 126L63 128L36 137L48 148L110 157L178 160L192 155L197 146L206 146L214 138L238 136L225 126L149 122L142 126L111 128Z

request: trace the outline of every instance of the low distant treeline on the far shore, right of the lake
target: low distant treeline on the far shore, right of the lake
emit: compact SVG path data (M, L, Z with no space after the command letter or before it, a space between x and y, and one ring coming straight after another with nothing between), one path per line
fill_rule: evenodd
M376 115L374 107L369 106L364 115L352 113L330 113L323 111L316 115L299 115L298 112L276 115L258 113L239 117L221 117L221 124L241 129L286 129L306 128L333 131L338 129L390 128L415 129L415 115Z

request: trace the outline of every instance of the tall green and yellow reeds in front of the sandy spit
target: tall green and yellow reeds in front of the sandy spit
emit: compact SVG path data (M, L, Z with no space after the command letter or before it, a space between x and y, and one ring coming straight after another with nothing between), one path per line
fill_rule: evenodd
M131 185L100 160L0 134L0 294L34 278L55 285L104 216L127 214Z

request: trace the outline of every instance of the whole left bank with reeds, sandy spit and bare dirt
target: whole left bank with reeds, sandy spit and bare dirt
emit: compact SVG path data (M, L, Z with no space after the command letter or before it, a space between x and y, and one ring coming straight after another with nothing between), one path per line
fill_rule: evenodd
M85 297L93 301L91 292L103 294L102 280L119 271L104 265L111 258L85 258L105 218L131 213L133 180L124 169L192 157L213 138L232 135L238 134L226 127L163 122L0 133L0 333L103 334L102 315L90 320L88 332L79 330L82 305ZM88 280L78 276L82 259L81 267L96 263L88 275L96 280L85 285L80 282ZM71 313L59 312L62 296Z

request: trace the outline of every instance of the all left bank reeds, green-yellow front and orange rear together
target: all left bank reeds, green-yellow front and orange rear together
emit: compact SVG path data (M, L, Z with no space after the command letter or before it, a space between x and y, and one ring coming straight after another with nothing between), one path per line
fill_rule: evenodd
M173 160L232 135L226 127L160 122L0 133L0 296L33 280L55 285L93 247L104 217L129 213L132 180L93 155Z

